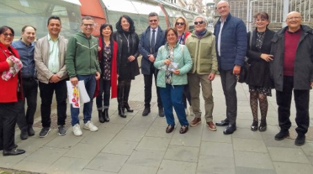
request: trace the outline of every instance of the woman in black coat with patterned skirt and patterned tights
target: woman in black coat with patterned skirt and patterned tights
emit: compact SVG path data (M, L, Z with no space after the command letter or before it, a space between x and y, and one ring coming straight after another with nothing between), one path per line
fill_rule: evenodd
M252 131L266 131L267 123L267 96L272 96L273 82L270 78L269 61L273 60L271 52L271 40L274 31L269 30L269 15L266 12L258 12L254 15L256 30L247 34L248 44L247 57L251 64L247 84L249 84L250 106L253 115ZM252 34L251 34L252 32ZM250 37L252 36L252 39ZM258 126L258 102L260 103L261 121Z

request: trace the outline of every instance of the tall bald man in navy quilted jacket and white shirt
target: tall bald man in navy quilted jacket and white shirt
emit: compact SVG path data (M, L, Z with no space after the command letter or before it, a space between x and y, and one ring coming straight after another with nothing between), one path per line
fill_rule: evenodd
M216 122L216 126L227 126L223 133L229 135L236 131L236 84L247 52L247 30L243 20L231 16L227 1L218 2L216 10L220 14L220 19L214 26L214 35L216 37L218 71L226 103L226 119Z

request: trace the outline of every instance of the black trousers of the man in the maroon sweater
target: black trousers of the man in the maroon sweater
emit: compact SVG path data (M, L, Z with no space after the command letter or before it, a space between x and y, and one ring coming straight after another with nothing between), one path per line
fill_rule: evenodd
M294 90L294 77L284 76L283 91L276 90L278 105L278 124L282 131L287 131L290 122L290 106L292 102L292 90L294 91L294 103L296 105L296 133L305 134L310 126L309 103L310 90Z

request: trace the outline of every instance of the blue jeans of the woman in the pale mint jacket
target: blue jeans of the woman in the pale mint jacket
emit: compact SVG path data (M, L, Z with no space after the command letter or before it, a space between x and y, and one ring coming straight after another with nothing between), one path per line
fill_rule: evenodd
M184 104L182 103L182 91L184 85L171 86L167 84L166 88L160 88L160 95L164 108L164 114L167 118L167 124L174 126L175 119L173 115L173 108L175 109L178 121L181 126L188 126L189 123L184 112Z

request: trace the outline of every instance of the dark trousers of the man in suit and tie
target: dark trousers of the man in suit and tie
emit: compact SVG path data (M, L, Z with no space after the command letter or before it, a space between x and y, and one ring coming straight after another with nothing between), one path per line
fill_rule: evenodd
M162 100L160 96L160 88L156 86L156 81L158 77L158 69L154 68L154 66L151 66L151 74L150 75L144 75L144 107L150 108L151 107L151 97L152 97L152 79L154 75L155 80L155 87L157 91L157 97L158 97L158 107L163 108Z

